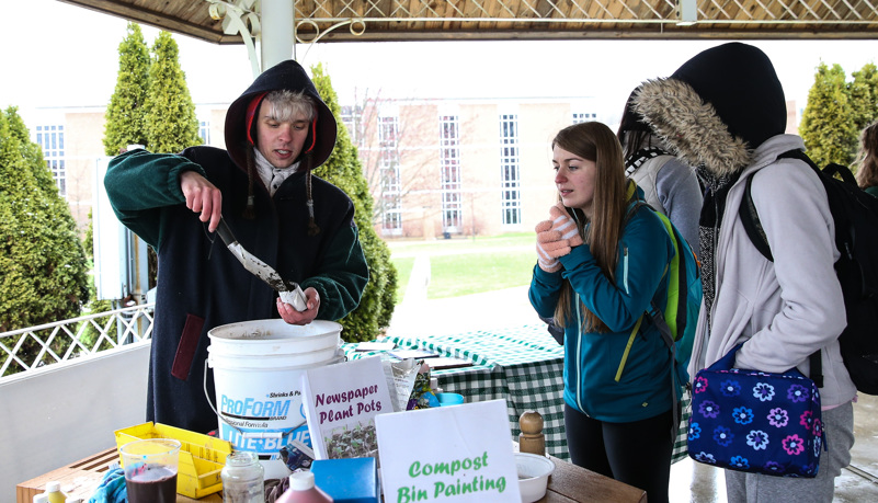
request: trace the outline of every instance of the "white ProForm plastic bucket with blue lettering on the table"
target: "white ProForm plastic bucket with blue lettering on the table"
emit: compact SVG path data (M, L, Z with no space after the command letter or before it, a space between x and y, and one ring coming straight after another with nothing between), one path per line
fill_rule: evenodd
M262 460L280 459L292 439L310 447L300 378L309 368L344 359L341 329L332 321L299 327L278 319L208 331L219 437Z

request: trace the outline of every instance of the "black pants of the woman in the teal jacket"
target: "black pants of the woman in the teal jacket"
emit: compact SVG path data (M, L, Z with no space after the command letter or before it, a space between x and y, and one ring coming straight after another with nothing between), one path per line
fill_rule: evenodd
M631 423L606 423L565 404L567 447L573 465L647 491L649 503L668 502L671 411Z

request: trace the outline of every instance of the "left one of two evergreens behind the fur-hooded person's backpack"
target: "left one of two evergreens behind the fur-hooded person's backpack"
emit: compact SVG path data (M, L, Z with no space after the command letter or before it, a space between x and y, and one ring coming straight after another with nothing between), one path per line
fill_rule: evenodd
M830 162L851 164L857 129L841 66L828 68L823 62L818 66L814 84L808 91L808 105L802 113L799 135L817 165Z

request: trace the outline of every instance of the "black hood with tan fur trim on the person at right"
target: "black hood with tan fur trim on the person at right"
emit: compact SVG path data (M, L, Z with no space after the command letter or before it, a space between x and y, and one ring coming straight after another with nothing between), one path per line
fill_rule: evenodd
M684 62L671 77L643 82L635 110L689 165L739 172L751 152L786 130L786 99L768 57L729 43Z

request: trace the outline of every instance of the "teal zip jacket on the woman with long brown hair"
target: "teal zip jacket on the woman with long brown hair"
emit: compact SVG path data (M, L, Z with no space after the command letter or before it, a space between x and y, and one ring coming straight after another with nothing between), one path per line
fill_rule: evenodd
M559 272L535 266L528 293L537 313L552 317L561 285L570 282L575 299L565 329L565 402L612 423L652 418L672 407L670 350L646 319L634 338L631 332L652 300L662 310L666 305L673 242L659 217L641 207L626 222L618 253L615 282L603 274L589 245L581 244L560 258ZM582 329L580 301L609 332Z

